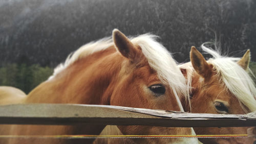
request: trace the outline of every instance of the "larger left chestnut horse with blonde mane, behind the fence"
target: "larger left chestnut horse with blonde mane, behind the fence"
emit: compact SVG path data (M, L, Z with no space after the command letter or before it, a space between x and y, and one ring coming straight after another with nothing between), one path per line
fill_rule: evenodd
M128 38L115 29L112 38L90 42L69 55L53 75L20 103L72 103L183 110L185 78L172 55L144 34ZM179 96L178 96L179 95ZM0 134L98 135L104 125L1 126ZM192 128L118 126L123 134L192 134ZM1 139L0 143L89 143L94 139ZM197 139L133 139L136 143L196 143Z

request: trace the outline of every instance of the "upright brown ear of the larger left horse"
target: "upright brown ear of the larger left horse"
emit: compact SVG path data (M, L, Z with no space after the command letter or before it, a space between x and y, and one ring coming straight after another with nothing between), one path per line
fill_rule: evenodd
M113 41L117 50L126 58L134 59L136 56L136 47L134 44L119 30L113 30Z

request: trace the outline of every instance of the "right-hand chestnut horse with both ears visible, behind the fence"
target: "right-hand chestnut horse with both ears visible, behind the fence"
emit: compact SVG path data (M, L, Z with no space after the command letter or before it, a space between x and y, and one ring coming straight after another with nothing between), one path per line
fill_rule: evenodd
M240 58L221 56L202 45L214 56L206 61L193 46L190 61L180 65L189 85L185 111L195 113L245 114L256 110L256 88L249 72L250 51ZM196 134L246 134L248 127L194 128ZM201 138L203 143L253 143L253 138Z

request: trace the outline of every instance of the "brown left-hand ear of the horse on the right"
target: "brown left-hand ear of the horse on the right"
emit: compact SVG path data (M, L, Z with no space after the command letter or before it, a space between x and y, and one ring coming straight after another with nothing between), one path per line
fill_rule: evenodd
M195 46L190 50L190 61L197 73L205 79L212 76L212 65L208 64Z

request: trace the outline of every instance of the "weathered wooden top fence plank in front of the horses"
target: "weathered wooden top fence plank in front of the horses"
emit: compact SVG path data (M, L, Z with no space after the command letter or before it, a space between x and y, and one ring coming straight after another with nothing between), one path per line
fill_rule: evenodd
M103 105L19 104L0 106L0 124L255 127L256 116L255 112L200 114Z

